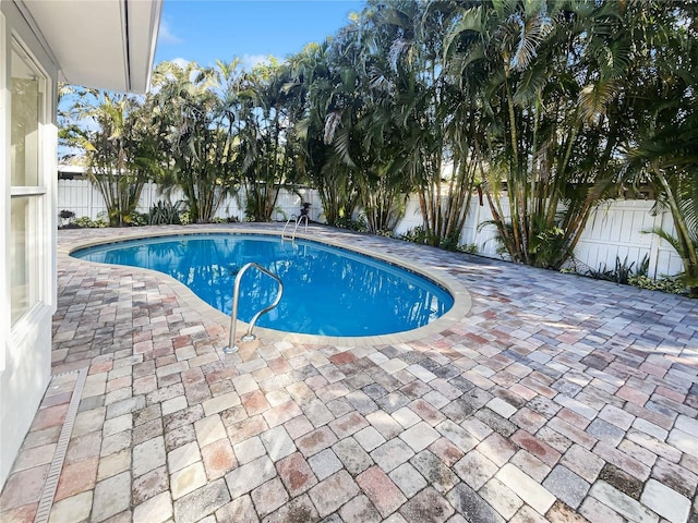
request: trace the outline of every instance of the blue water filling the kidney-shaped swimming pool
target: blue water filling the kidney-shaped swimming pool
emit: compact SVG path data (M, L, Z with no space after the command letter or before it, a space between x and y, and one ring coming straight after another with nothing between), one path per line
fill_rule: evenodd
M317 242L281 242L278 236L164 236L89 247L73 256L165 272L226 314L230 314L237 272L255 262L284 281L281 302L257 325L287 332L400 332L429 324L454 303L441 287L407 270ZM272 278L248 270L240 285L239 318L250 321L276 293Z

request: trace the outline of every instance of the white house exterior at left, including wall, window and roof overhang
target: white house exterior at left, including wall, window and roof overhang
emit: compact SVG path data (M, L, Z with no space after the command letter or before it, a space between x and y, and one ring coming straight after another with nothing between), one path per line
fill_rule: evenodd
M0 1L0 487L51 372L59 74L69 83L144 93L153 66L161 0L93 3ZM128 17L113 15L122 12ZM65 21L75 27L73 34L63 31ZM93 60L105 53L108 60ZM13 117L13 75L34 80L40 93L36 111L26 110L17 120L32 123L25 127L25 147L10 139L12 118L17 118ZM13 173L19 178L14 184Z

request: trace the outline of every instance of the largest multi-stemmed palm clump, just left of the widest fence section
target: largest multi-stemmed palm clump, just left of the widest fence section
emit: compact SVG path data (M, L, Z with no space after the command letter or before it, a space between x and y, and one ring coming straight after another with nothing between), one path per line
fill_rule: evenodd
M617 174L623 19L593 1L455 3L446 66L486 123L490 223L512 259L559 268Z

